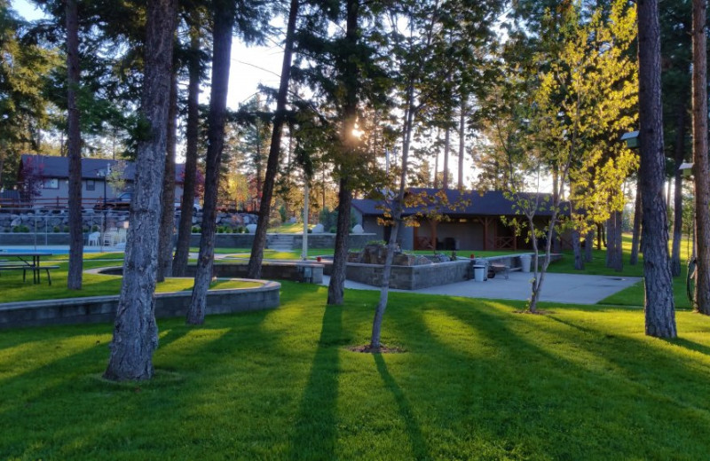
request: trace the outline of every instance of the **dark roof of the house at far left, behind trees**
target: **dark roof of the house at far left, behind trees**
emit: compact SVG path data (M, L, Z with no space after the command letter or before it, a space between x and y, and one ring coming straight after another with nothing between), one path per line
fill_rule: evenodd
M21 158L22 165L32 162L39 166L43 177L56 177L59 179L68 179L69 177L69 158L56 157L51 155L37 155L23 153ZM120 160L110 159L82 159L82 179L103 179L103 172L106 166L114 168ZM122 160L126 168L123 170L123 179L133 181L136 176L136 167L130 160ZM185 164L180 163L175 166L175 182L182 184L184 178Z

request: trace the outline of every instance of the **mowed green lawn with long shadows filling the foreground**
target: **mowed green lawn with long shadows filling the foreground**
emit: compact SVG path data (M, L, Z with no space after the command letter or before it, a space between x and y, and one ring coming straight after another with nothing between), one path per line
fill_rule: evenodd
M0 335L0 459L703 459L710 320L285 282L279 309L159 322L156 378L100 379L112 325Z

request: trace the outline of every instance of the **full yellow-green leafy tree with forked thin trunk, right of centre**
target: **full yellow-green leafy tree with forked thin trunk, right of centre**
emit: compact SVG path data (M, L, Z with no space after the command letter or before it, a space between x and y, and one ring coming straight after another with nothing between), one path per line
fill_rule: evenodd
M508 64L504 85L493 92L502 97L492 99L489 111L501 116L487 125L492 142L488 162L495 168L488 178L507 184L526 217L535 253L538 238L544 237L543 251L550 254L565 211L565 187L571 191L569 211L577 229L587 230L588 223L602 222L611 210L623 207L621 183L636 166L635 154L618 143L620 134L635 124L636 71L628 54L635 12L621 1L593 11L569 4L565 10L548 10L540 21L554 24L556 34L545 27L540 40L520 35L510 43L509 51L516 52L532 43L533 54L522 65ZM541 201L526 191L540 191L545 174L553 176L553 193ZM534 218L543 209L552 217L540 229ZM548 261L534 265L533 311Z

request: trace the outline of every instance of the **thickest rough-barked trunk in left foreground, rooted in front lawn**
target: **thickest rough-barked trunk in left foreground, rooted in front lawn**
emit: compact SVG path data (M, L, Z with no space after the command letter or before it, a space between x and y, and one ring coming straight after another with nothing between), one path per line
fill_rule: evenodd
M150 127L150 135L138 145L123 283L111 356L104 373L106 379L117 381L150 379L154 374L153 353L158 347L158 327L153 295L176 12L176 0L148 2L141 111Z

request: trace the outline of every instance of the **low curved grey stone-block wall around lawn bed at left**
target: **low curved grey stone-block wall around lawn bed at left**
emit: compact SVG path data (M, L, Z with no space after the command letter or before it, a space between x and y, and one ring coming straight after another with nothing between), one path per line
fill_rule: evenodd
M112 268L87 270L101 273ZM115 269L115 268L113 268ZM256 288L209 290L206 314L231 314L250 310L274 309L280 305L281 284L269 280ZM185 316L192 291L155 293L155 316ZM118 307L117 294L67 298L61 300L20 301L0 304L0 329L51 324L95 324L113 322Z

